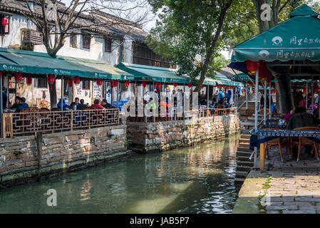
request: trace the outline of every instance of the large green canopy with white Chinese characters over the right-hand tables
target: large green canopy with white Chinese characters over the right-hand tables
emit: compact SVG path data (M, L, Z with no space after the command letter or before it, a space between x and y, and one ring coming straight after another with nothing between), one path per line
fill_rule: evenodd
M291 18L264 33L239 44L232 53L232 62L252 61L319 61L319 13L302 5Z

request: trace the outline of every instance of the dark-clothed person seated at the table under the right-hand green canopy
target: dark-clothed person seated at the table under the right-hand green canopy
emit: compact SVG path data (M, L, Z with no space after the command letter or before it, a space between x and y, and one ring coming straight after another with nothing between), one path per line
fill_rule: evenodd
M294 113L296 113L296 115L291 116L287 124L288 130L294 128L310 127L320 124L320 120L318 118L315 118L313 115L306 113L305 107L296 108Z

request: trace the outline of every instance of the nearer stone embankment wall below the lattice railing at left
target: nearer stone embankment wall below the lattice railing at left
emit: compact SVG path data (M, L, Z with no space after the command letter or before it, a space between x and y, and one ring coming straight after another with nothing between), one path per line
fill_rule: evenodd
M125 125L0 139L0 188L128 156L125 140Z

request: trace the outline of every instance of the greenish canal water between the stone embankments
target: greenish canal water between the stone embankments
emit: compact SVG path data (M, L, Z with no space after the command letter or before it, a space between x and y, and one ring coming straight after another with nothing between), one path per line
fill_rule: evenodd
M203 143L0 190L0 213L231 213L238 138ZM47 205L56 190L57 206Z

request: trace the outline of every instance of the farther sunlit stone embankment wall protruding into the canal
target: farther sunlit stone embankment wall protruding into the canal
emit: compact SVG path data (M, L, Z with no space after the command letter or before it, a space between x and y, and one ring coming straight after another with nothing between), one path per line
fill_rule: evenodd
M221 115L208 118L191 118L160 123L127 121L127 138L130 149L146 153L187 147L207 140L215 140L238 133L237 115Z

